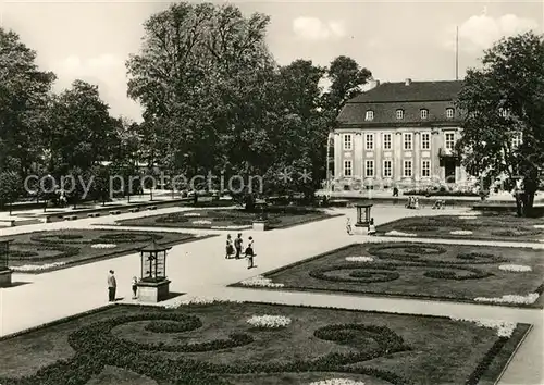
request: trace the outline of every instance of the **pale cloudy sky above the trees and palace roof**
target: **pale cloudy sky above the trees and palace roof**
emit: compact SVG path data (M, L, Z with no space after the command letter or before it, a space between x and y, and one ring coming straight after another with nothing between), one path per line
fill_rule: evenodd
M169 7L162 1L0 1L0 23L37 51L37 64L57 74L55 90L76 78L99 86L113 116L141 121L126 96L125 61L138 53L143 23ZM472 1L242 1L249 15L271 16L267 41L279 64L296 59L327 65L348 55L380 82L455 79L479 66L483 50L503 36L544 33L544 0Z

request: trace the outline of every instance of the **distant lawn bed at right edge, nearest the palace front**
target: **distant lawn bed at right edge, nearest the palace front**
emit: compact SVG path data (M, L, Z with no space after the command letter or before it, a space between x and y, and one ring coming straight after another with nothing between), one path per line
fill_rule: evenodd
M404 218L378 226L378 235L503 241L544 240L544 219L518 218L512 213ZM394 232L394 233L390 233ZM398 233L397 233L398 232ZM388 234L390 233L390 234Z

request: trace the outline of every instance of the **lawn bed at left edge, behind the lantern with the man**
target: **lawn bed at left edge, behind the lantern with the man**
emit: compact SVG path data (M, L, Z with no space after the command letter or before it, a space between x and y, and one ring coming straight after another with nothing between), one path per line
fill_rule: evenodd
M153 239L161 245L175 245L197 238L180 233L63 229L20 234L2 239L13 239L10 244L10 269L42 273L135 252Z

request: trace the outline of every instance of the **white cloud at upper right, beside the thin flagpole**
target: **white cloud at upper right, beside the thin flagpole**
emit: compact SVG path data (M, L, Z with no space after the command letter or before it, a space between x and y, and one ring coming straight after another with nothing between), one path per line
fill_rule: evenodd
M503 37L514 36L539 28L539 23L514 14L491 17L474 15L459 26L459 50L478 52L491 48ZM445 46L455 49L455 26L447 32Z

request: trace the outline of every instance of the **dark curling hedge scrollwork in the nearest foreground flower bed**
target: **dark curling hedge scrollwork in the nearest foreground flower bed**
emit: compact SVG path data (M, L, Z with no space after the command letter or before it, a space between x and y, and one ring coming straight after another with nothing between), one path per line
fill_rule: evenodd
M40 369L36 374L22 378L1 378L2 385L70 384L85 385L104 365L113 365L146 375L159 383L191 385L232 384L225 375L248 373L283 372L344 372L367 374L395 385L410 384L410 381L393 372L375 368L346 368L346 364L375 359L382 356L408 351L400 336L384 326L346 324L329 325L314 331L317 338L348 345L349 352L333 352L325 356L294 360L290 362L247 362L233 365L189 359L176 359L156 355L154 351L201 352L235 348L251 344L247 334L232 334L228 339L197 344L143 344L120 339L112 330L129 322L149 321L148 325L159 333L181 333L200 327L197 316L170 311L143 312L122 315L83 326L69 336L69 343L76 351L75 357L61 360ZM173 326L176 324L177 326ZM372 339L375 344L368 344ZM378 345L378 347L375 347Z

